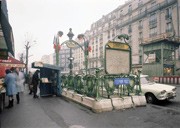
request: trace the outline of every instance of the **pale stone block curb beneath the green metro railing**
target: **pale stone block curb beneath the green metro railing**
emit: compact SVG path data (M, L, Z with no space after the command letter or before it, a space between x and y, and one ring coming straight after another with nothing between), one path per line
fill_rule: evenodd
M90 108L95 113L107 112L112 110L128 109L135 106L146 106L145 96L126 96L110 99L95 99L72 90L63 89L62 96Z

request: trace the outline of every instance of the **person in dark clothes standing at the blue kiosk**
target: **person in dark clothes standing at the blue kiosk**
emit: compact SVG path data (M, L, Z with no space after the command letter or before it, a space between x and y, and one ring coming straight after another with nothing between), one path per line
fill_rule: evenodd
M38 98L38 96L37 96L37 88L38 88L38 84L40 82L39 74L40 74L40 71L36 70L35 73L32 76L34 98Z

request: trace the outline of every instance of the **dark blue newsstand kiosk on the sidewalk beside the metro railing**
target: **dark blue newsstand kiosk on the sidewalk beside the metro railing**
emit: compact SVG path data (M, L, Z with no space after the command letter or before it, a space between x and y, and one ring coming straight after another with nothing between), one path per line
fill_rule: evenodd
M61 95L60 67L42 62L33 62L32 68L40 70L40 96Z

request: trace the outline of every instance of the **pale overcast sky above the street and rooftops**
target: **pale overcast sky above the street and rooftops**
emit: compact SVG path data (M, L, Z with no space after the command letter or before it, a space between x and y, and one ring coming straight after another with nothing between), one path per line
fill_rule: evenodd
M25 41L30 40L30 63L54 52L53 37L59 31L68 40L90 29L92 23L124 4L126 0L7 0L9 22L15 41L15 58L25 53ZM36 41L34 43L33 41Z

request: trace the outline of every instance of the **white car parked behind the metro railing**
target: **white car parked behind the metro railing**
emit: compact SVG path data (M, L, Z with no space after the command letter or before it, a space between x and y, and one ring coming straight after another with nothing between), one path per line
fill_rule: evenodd
M176 87L150 81L148 75L141 75L141 89L147 103L156 103L158 100L169 100L176 97Z

